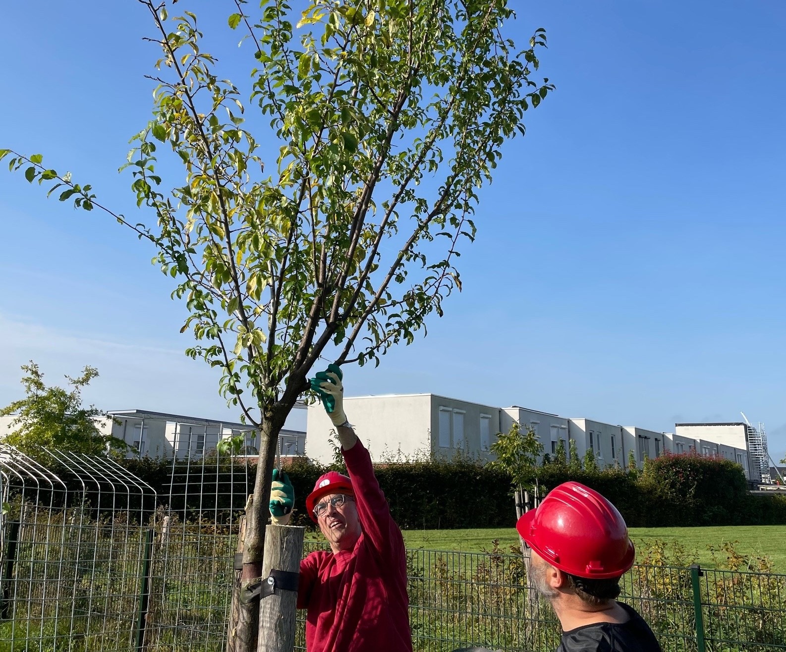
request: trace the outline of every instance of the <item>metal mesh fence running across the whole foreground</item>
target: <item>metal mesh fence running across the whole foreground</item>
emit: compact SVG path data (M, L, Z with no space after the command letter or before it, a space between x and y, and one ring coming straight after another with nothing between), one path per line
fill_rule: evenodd
M245 458L214 453L173 460L156 493L112 460L0 445L0 650L226 649L252 480ZM407 571L418 652L559 643L521 555L409 550ZM634 566L622 588L668 652L786 650L786 575Z

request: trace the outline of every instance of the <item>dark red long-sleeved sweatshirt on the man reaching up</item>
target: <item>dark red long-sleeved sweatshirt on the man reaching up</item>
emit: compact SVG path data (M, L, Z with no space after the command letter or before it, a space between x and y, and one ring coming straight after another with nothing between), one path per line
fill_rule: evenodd
M343 451L363 532L351 551L312 552L300 562L299 609L307 652L412 652L406 551L358 441Z

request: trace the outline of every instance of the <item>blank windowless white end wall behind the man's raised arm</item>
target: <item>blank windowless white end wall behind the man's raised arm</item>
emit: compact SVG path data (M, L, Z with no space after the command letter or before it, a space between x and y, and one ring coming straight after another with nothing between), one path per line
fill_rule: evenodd
M432 395L359 396L344 398L344 412L374 462L402 456L428 456L432 437ZM333 424L321 403L308 406L306 455L329 463ZM333 437L335 439L335 436Z

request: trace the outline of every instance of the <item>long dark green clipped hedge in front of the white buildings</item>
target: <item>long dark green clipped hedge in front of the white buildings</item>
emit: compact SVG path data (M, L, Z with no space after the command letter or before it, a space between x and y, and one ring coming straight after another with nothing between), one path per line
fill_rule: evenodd
M143 459L125 464L156 489L160 502L167 502L174 477L172 507L187 508L194 517L217 516L222 521L242 508L255 482L255 467L216 467L215 460L209 459L206 473L201 463L192 462L178 464L174 476L171 462ZM296 491L294 523L312 524L306 514L306 496L329 468L335 467L298 462L286 469ZM395 521L404 529L515 524L510 478L494 467L470 460L390 463L377 465L376 477ZM630 527L786 524L786 496L751 495L742 468L723 458L666 454L648 460L644 471L571 471L555 463L538 468L538 482L546 490L567 480L602 493Z

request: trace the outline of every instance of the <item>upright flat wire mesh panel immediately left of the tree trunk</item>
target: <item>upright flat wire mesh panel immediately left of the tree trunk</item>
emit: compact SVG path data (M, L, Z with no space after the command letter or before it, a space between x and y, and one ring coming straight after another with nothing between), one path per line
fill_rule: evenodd
M145 650L225 645L239 519L252 491L244 456L173 460L156 513Z

